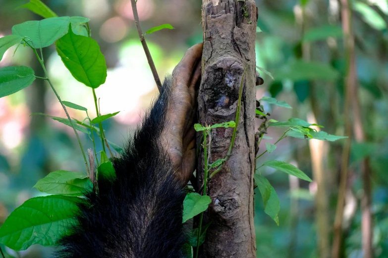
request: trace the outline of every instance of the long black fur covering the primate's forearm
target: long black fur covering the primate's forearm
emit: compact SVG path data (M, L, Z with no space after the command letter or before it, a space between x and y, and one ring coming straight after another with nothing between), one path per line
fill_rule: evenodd
M116 180L99 182L88 195L77 226L61 240L58 258L178 258L184 243L185 193L159 143L166 120L171 79L141 129L114 160Z

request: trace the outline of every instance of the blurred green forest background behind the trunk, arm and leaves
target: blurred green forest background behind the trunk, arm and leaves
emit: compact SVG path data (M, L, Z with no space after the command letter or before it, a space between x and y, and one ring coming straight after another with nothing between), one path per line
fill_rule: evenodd
M27 0L0 0L0 37L11 34L13 25L41 19L19 8ZM92 37L98 41L108 65L101 97L101 113L120 111L104 122L107 138L123 145L140 117L158 94L152 73L138 39L130 0L45 0L59 16L90 18ZM350 159L346 176L343 211L343 257L364 257L361 240L361 200L365 198L363 171L372 184L373 251L388 258L388 2L352 1L354 49L344 48L338 0L256 0L259 7L256 43L257 65L265 84L257 98L273 96L293 109L265 106L272 118L297 117L323 125L336 135L349 135ZM164 23L175 30L147 35L159 75L172 71L185 50L202 41L200 0L138 0L143 31ZM29 48L9 49L0 67L27 65L43 76ZM356 87L345 110L346 60L355 56ZM90 110L95 116L92 90L72 78L54 46L44 49L51 79L63 100ZM295 60L299 60L295 62ZM263 103L264 104L264 103ZM43 80L13 95L0 98L0 225L25 200L41 195L33 189L37 180L56 170L83 171L83 160L72 129L43 116L65 117L55 95ZM84 119L82 111L69 109L70 116ZM260 121L257 121L257 126ZM350 130L346 130L348 127ZM270 128L264 142L274 143L284 130ZM347 133L347 132L350 132ZM80 134L84 147L92 142ZM102 149L97 142L97 151ZM100 144L100 145L98 145ZM290 162L314 179L308 183L272 170L261 173L280 198L277 224L264 213L255 190L255 228L260 258L330 257L333 223L346 140L322 142L287 137L268 159ZM365 162L367 161L367 162ZM317 189L320 189L319 191ZM49 257L54 248L33 246L10 257Z

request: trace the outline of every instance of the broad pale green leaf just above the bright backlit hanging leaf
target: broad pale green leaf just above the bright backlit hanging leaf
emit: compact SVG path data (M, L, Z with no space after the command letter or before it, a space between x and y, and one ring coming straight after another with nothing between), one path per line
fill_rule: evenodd
M12 27L12 34L25 38L32 47L52 45L67 33L70 17L53 17L40 21L26 21Z

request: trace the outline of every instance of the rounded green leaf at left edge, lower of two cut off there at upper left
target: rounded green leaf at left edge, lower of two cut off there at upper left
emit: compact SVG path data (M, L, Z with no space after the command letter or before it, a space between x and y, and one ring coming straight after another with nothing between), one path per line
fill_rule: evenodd
M35 81L35 73L27 66L0 68L0 98L29 86Z

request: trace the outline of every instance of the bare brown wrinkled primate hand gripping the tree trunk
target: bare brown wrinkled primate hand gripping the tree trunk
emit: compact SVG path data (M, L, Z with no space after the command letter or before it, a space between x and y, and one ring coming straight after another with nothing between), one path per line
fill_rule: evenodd
M172 86L162 141L176 177L186 184L195 169L197 89L201 78L202 43L189 48L172 72Z

